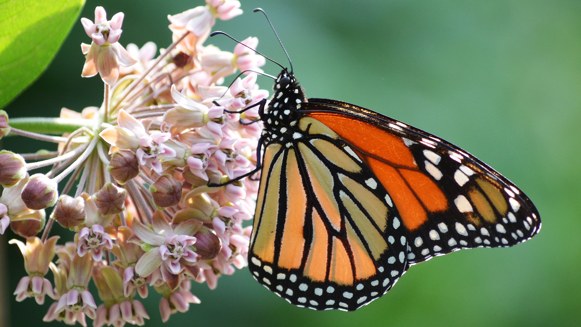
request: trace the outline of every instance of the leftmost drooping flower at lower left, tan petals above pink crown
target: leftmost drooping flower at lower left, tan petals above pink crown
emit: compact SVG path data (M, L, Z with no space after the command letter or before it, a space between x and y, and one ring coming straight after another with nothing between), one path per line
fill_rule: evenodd
M55 244L58 236L53 236L42 243L38 237L28 237L26 244L19 240L12 239L8 243L16 244L24 257L24 269L28 276L20 279L16 286L14 295L16 301L23 301L24 298L34 297L38 304L44 303L44 296L55 299L51 282L43 276L48 272L52 258L55 256Z

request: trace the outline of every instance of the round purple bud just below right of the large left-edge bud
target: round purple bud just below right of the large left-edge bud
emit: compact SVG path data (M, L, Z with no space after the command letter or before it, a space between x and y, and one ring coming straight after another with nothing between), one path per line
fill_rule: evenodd
M34 174L24 185L21 198L26 207L33 210L40 210L52 207L59 197L57 184L44 174Z

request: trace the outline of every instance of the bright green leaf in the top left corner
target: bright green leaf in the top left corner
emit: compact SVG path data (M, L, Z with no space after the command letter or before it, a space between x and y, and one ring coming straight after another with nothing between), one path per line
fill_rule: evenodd
M0 108L45 70L85 0L0 0Z

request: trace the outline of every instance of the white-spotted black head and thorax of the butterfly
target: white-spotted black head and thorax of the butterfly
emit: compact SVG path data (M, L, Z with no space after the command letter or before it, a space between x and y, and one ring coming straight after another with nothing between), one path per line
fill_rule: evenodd
M297 122L303 116L299 111L300 104L307 99L295 76L286 70L278 74L272 90L270 104L261 117L264 122L262 135L267 143L284 144L293 140L298 130Z

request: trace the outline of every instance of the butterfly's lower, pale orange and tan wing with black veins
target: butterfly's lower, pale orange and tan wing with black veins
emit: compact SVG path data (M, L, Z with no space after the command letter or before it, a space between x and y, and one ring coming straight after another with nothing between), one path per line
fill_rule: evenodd
M295 305L356 310L404 272L407 238L374 174L315 119L266 148L250 271Z

